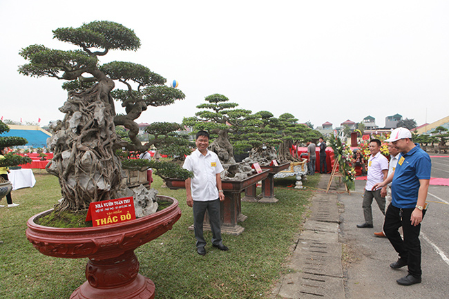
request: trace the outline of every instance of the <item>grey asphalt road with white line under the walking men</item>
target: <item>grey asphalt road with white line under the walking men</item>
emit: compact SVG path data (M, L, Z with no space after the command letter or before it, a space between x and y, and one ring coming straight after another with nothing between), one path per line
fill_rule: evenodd
M432 156L432 155L431 155ZM432 157L432 177L449 178L449 155ZM386 238L376 238L383 215L373 203L374 229L357 229L363 223L362 193L365 181L356 181L352 195L340 194L340 241L344 244L346 298L448 298L449 281L449 186L430 186L430 206L421 226L423 282L410 287L396 280L407 274L389 264L397 253Z

